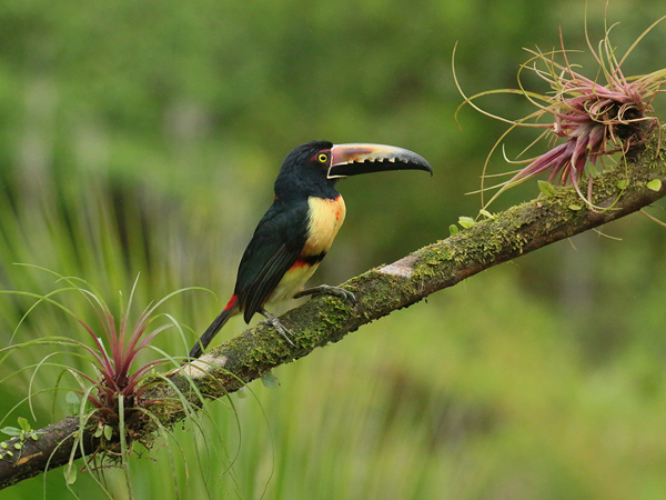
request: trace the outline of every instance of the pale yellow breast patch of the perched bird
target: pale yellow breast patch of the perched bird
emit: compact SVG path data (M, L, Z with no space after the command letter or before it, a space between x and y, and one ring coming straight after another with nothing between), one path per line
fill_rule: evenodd
M334 200L310 197L310 224L307 241L303 248L302 254L316 256L327 252L333 244L337 230L344 222L346 208L342 196Z

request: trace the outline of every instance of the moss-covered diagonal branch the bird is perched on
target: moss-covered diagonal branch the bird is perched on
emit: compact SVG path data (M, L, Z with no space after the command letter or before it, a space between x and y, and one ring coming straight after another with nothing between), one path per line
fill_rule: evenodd
M349 280L343 287L356 294L357 302L353 306L339 298L320 297L283 314L281 322L295 332L294 347L271 327L259 326L182 370L149 380L143 387L142 403L160 426L170 427L191 411L183 407L182 398L199 407L201 398L226 396L273 368L307 356L329 342L337 342L361 326L437 290L640 210L666 196L666 161L664 152L658 150L658 136L654 133L625 163L595 180L592 201L604 210L588 209L571 188L513 207L390 266ZM660 180L658 190L655 182L650 183L655 179ZM133 422L127 423L131 439L151 440L158 423L145 418L144 412L135 416L139 417ZM26 443L19 456L0 460L0 489L68 463L71 437L78 428L79 420L70 417L38 431L40 439ZM90 433L85 436L81 448L90 454L100 442ZM7 444L12 447L17 441L14 438Z

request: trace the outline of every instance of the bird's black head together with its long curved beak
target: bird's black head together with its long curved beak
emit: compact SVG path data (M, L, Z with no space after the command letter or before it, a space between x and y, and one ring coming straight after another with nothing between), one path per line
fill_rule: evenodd
M415 152L394 146L351 143L333 146L312 141L299 146L282 163L275 180L275 194L335 198L337 179L385 170L425 170L427 161Z

